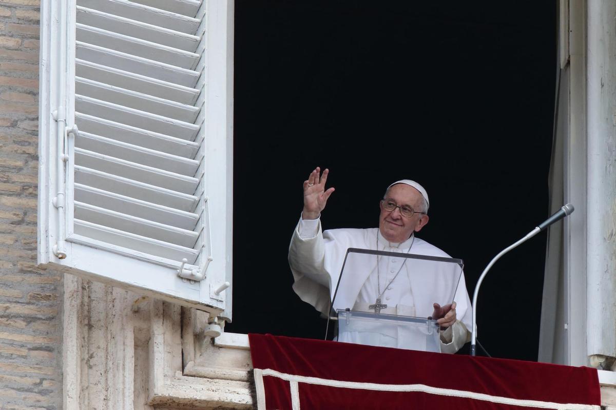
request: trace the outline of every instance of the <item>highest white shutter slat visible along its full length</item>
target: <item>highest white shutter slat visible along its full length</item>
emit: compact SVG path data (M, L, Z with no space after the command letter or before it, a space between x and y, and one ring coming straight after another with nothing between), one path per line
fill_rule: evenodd
M185 34L180 31L163 28L131 18L113 15L99 10L77 6L77 22L83 25L102 28L113 33L124 34L175 49L195 52L200 37Z

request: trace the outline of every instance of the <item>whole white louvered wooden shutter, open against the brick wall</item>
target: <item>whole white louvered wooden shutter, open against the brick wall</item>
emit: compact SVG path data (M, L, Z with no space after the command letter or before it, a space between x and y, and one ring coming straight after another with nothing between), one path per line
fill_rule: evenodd
M230 317L233 2L41 17L39 262Z

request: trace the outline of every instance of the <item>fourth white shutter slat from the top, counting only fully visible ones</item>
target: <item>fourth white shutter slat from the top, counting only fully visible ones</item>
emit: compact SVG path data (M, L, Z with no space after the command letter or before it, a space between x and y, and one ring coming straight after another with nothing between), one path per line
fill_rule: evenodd
M75 61L75 75L182 104L194 105L199 96L199 90L197 89L142 76L137 73L129 73L128 71L100 65L92 61L80 60L79 58Z

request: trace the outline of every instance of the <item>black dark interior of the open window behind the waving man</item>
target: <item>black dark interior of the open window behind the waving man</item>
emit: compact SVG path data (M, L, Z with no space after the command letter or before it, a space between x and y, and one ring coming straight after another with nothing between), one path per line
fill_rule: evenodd
M325 229L375 227L387 185L423 184L418 236L464 259L471 298L490 259L548 216L556 2L418 3L235 1L228 331L323 336L287 262L317 165L336 187ZM537 360L545 246L512 251L482 285L495 357Z

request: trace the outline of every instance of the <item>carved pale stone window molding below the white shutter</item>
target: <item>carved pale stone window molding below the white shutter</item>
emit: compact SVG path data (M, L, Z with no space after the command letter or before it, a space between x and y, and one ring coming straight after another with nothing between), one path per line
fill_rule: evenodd
M201 312L68 274L64 283L65 410L253 408L249 352L195 336ZM189 348L198 359L183 373Z

